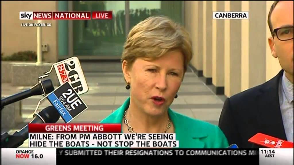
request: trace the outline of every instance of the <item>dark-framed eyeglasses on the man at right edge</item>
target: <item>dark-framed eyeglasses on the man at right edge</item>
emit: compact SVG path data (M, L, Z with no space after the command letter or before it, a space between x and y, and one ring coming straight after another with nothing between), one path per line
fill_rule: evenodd
M272 31L272 36L274 38L274 34L275 34L275 36L277 36L277 38L280 41L291 40L291 39L293 39L293 28L294 28L293 26L276 28Z

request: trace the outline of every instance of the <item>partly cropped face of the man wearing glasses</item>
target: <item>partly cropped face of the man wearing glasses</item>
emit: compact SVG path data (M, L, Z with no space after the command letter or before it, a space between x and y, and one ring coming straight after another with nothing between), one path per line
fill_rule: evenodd
M293 1L280 1L271 14L273 30L283 26L293 26ZM293 81L293 39L280 41L276 34L268 38L272 55L279 59L288 79ZM290 76L290 77L289 77Z

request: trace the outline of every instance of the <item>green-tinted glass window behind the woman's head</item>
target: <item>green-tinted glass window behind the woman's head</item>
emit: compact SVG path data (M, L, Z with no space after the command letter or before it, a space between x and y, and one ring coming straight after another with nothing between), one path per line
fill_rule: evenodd
M130 29L149 16L182 20L182 1L129 1ZM73 11L113 11L111 20L74 20L74 56L119 59L126 41L125 1L73 1Z

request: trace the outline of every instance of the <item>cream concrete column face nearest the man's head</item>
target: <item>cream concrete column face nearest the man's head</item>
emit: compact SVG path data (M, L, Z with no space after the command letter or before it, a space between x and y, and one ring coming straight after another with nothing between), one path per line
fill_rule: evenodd
M265 82L266 2L249 2L249 88Z

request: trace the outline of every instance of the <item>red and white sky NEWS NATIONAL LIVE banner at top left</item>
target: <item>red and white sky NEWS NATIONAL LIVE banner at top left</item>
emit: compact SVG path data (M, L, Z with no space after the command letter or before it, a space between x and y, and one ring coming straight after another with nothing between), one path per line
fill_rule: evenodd
M91 20L112 19L112 11L19 12L20 20Z

